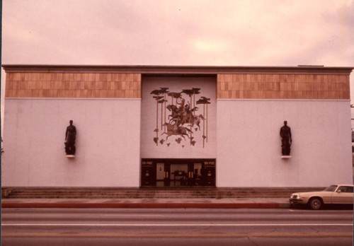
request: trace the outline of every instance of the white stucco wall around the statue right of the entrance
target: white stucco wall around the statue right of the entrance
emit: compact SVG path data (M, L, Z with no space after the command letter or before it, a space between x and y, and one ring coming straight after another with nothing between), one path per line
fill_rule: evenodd
M292 129L281 159L280 127ZM217 187L353 183L350 102L217 100Z

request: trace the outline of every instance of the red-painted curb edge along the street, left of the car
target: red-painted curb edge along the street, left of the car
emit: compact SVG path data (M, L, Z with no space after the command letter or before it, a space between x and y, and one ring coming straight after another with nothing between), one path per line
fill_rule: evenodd
M235 204L205 204L205 203L10 203L1 204L1 208L55 208L55 209L285 209L290 204L278 203L235 203Z

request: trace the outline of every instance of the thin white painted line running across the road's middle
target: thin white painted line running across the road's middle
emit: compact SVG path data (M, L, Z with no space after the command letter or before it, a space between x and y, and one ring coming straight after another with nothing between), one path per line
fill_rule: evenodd
M301 224L116 224L116 223L1 223L1 226L352 226L353 223L301 223Z

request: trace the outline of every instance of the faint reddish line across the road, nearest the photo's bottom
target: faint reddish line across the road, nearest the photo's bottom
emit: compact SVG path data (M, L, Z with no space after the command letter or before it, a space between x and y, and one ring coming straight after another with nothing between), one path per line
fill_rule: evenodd
M246 233L246 234L193 234L193 233L159 233L159 234L145 234L145 233L2 233L3 237L115 237L115 238L189 238L189 237L352 237L352 233Z

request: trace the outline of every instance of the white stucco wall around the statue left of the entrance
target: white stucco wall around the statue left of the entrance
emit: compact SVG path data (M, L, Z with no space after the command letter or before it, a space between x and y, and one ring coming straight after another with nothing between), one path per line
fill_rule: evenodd
M3 186L139 187L140 99L6 98ZM76 157L65 131L76 126Z

